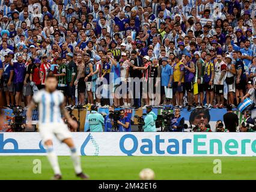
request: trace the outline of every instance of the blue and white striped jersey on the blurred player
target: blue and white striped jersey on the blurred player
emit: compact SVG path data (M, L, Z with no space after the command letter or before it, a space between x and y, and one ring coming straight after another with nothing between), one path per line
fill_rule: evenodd
M34 94L33 100L38 104L39 124L62 122L61 104L64 101L62 92L56 90L50 93L41 89Z

